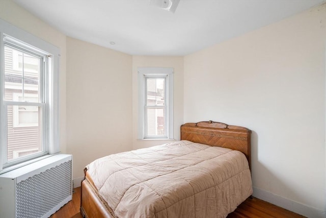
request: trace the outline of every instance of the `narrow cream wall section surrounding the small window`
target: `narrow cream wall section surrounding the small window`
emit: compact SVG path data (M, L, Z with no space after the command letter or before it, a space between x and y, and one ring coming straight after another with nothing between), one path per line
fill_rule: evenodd
M132 57L132 147L133 149L147 148L171 140L137 140L138 138L138 67L173 67L174 68L174 138L180 139L180 125L183 123L183 57Z

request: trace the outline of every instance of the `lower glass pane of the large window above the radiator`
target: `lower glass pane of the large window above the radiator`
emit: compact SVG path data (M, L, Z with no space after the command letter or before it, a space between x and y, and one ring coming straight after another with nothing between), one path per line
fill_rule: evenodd
M8 161L42 151L41 107L8 106Z

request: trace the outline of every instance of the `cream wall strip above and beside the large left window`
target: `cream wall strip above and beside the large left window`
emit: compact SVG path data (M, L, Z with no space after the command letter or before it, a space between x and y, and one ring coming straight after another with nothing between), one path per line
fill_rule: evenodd
M59 47L60 150L66 152L66 36L12 1L0 0L0 18Z

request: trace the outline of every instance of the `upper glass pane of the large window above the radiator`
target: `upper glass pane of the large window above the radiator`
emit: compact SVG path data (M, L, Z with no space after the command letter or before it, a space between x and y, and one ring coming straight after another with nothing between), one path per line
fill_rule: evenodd
M41 58L5 46L5 100L39 102ZM13 93L21 93L14 99ZM37 98L26 99L26 94Z

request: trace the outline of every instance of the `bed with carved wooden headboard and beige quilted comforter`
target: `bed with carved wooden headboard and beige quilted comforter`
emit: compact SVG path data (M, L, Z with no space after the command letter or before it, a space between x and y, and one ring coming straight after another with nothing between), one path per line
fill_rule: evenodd
M180 141L88 164L83 216L226 217L252 195L249 129L212 121L180 129Z

